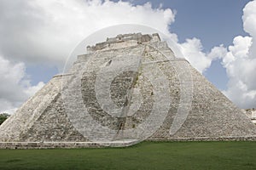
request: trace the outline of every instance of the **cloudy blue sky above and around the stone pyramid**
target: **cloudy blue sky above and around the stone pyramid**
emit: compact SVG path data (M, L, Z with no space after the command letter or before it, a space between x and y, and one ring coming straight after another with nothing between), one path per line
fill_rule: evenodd
M12 113L85 37L150 26L241 108L256 108L256 0L0 0L0 112Z

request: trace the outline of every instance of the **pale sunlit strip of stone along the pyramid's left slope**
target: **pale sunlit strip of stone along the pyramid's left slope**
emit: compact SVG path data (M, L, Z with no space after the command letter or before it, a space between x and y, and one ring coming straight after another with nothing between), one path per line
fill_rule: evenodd
M14 115L0 127L0 141L20 141L20 133L26 132L42 112L61 92L61 78L51 79L37 94L28 99Z

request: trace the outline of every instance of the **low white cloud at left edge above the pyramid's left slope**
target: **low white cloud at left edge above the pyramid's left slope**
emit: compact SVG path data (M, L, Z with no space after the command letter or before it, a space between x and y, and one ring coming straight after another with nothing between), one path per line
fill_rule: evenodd
M32 86L26 77L24 63L11 63L0 55L0 113L12 113L39 88L44 86L44 82Z

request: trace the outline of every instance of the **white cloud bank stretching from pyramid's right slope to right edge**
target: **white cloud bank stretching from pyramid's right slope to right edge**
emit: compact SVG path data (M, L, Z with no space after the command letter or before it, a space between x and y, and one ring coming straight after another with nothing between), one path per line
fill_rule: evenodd
M212 48L210 53L202 52L201 41L187 39L177 44L191 65L206 71L212 60L222 59L222 65L229 77L228 89L223 93L241 108L256 108L256 1L247 3L243 9L244 30L250 37L235 37L233 45Z

